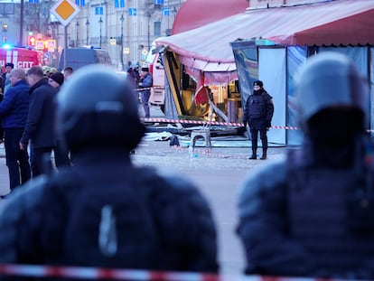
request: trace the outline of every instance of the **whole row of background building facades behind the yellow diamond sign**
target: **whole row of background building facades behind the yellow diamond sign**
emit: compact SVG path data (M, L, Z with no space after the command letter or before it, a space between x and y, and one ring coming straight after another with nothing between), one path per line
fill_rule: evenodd
M56 0L0 1L2 44L45 47L43 64L57 66L63 48L93 46L109 52L113 66L126 70L145 61L152 42L171 34L175 14L186 0L74 0L79 13L63 26L51 14Z

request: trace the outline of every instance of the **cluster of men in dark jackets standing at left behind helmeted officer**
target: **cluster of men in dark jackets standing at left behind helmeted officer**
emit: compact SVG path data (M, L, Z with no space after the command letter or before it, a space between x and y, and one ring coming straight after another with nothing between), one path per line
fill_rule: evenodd
M54 124L55 98L64 74L55 72L46 76L42 67L34 66L27 71L12 68L8 79L10 86L0 102L0 119L9 187L13 192L32 177L51 171L51 161L44 155L53 151L56 167L70 164L70 160L64 145L58 142Z

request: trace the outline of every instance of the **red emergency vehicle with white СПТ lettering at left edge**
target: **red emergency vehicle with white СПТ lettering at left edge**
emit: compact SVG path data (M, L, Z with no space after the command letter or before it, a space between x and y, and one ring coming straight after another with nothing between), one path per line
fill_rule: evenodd
M0 48L0 63L4 68L6 62L12 62L14 68L28 70L34 65L41 65L39 53L26 48Z

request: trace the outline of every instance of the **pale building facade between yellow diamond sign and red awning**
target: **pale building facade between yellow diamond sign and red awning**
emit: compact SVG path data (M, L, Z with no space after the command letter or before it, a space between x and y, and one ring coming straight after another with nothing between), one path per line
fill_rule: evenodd
M184 1L89 0L70 23L69 44L106 49L118 70L126 70L145 61L156 38L171 34Z

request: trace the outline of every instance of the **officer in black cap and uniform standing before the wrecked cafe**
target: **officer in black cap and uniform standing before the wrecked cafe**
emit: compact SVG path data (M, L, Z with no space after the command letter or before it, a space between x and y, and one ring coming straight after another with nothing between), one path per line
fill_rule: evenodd
M249 95L243 112L244 126L249 126L252 139L252 155L249 159L257 159L258 133L262 144L262 156L266 159L267 136L266 132L271 126L271 119L274 114L273 98L264 89L262 81L253 83L253 94Z

